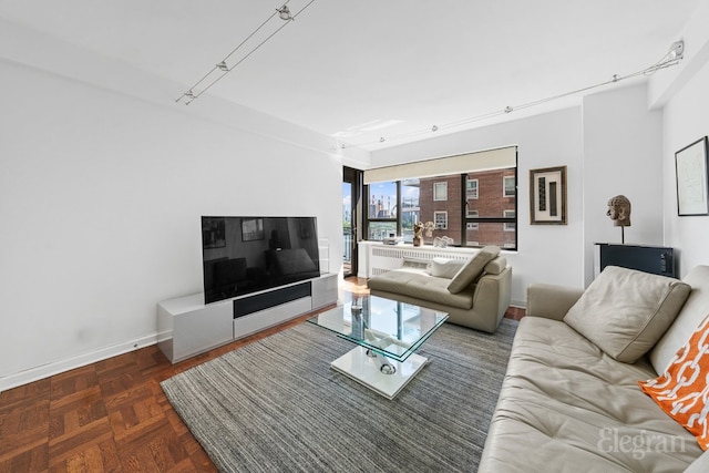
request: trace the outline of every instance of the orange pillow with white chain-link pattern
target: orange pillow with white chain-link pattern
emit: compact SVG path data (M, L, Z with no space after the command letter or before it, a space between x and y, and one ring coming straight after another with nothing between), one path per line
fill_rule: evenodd
M639 381L669 417L697 438L702 450L709 448L709 316L689 341L677 351L665 373Z

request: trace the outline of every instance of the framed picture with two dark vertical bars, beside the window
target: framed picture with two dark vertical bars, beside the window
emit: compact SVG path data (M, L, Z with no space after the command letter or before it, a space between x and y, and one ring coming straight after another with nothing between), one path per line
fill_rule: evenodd
M532 225L566 225L566 166L530 169Z

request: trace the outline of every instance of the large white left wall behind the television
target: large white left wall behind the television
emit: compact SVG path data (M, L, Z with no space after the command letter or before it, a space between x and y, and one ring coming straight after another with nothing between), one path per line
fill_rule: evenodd
M3 51L0 390L154 343L156 302L202 290L201 215L315 215L339 271L341 162L319 135L208 97L187 109L165 100L172 91L99 88ZM121 73L143 95L162 91Z

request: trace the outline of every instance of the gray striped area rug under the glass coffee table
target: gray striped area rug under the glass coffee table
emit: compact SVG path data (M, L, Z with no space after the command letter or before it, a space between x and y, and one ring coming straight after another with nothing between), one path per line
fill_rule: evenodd
M330 369L353 345L310 323L162 383L225 472L476 471L517 322L445 323L427 367L388 400Z

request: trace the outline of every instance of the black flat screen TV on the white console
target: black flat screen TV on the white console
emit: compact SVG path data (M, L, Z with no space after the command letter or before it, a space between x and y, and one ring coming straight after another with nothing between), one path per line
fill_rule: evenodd
M320 276L316 217L202 217L205 304Z

